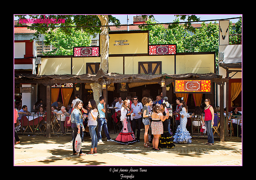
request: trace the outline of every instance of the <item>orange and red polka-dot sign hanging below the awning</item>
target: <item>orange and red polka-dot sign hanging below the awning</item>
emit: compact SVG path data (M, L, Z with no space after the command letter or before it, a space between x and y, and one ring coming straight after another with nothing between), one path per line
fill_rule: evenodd
M211 93L211 80L175 80L174 93Z

